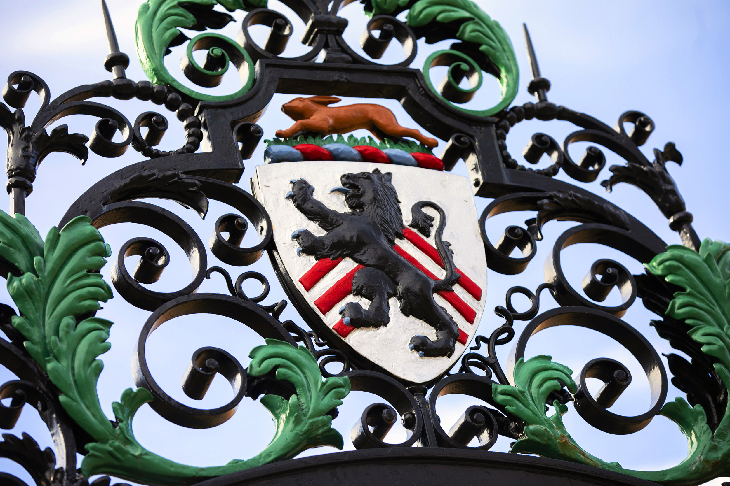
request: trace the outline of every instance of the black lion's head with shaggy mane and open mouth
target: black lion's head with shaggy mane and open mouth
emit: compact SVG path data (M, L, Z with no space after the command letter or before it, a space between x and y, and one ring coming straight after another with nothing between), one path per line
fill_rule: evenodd
M393 174L372 172L343 174L339 180L346 189L345 204L377 223L391 246L396 237L403 238L403 214L396 188L391 183Z

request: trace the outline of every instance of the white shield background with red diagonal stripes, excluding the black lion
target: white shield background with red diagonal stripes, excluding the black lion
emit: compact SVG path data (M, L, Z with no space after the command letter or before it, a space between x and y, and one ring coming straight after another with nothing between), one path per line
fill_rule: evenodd
M418 201L428 200L439 205L446 213L443 240L451 243L453 261L462 275L453 286L453 292L434 294L436 302L453 317L461 331L456 350L450 357L421 357L410 350L411 337L421 334L435 339L434 329L424 321L405 317L399 310L399 301L391 297L390 323L379 328L353 328L342 323L338 310L347 302L359 302L369 306L369 300L350 294L352 279L358 265L349 258L339 262L318 261L314 256L301 253L297 256L298 243L291 235L299 229L310 230L322 236L326 231L310 222L286 198L291 190L292 179L305 179L315 187L314 197L328 208L347 212L345 197L330 192L341 184L345 173L381 172L393 174L392 183L401 202L404 224L411 219L411 208ZM300 301L310 306L310 315L317 315L321 322L313 323L332 330L334 339L344 340L361 356L392 375L412 383L425 383L449 369L464 353L477 332L484 310L487 265L480 237L478 216L472 199L469 180L446 172L403 165L372 164L366 162L283 162L259 165L252 180L255 196L264 205L272 220L274 243L281 263L291 278L290 293L301 295ZM434 216L434 228L438 224L436 211L426 208ZM413 264L418 271L439 279L445 270L437 263L434 233L426 238L412 229L404 231L403 239L396 239L396 251ZM349 287L348 287L349 285ZM335 344L335 343L333 343Z

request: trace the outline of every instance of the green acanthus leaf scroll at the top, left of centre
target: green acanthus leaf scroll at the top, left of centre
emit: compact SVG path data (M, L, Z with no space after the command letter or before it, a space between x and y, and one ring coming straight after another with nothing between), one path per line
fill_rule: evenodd
M238 69L242 79L242 87L236 93L230 95L199 93L182 85L165 67L164 58L169 53L169 47L188 40L179 29L194 26L197 30L201 30L199 27L201 22L196 15L193 15L195 9L185 7L212 8L216 4L225 7L228 12L234 12L234 10L266 7L266 0L147 0L139 6L135 26L137 55L139 55L142 69L150 81L158 85L172 86L180 93L204 101L231 100L251 89L254 80L254 66L251 58L237 42L220 34L204 33L193 38L181 60L181 67L185 76L196 85L214 87L220 83L220 77L226 73L228 63L231 62ZM220 28L232 20L232 17L222 12L210 12L223 19L218 20L214 28ZM203 24L208 25L210 22L203 22ZM208 50L210 55L220 60L218 70L211 71L196 63L196 60L193 59L193 51L201 49Z

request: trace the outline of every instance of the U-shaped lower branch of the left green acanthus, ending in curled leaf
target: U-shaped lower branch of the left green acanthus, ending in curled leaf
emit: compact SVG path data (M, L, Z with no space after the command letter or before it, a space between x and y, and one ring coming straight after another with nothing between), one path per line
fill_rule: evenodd
M277 379L290 381L297 391L289 400L277 395L261 398L261 404L276 423L274 438L261 453L248 460L231 460L224 466L204 468L162 458L142 447L131 427L134 413L152 396L144 388L127 389L120 401L112 404L118 422L115 436L87 446L89 453L82 462L84 474L113 474L131 481L177 485L191 482L191 478L201 480L293 458L310 447L331 445L341 449L342 436L331 428L332 419L325 414L342 404L342 398L350 391L347 377L323 381L312 353L287 342L266 340L266 345L254 348L250 356L250 375L264 375L276 369Z

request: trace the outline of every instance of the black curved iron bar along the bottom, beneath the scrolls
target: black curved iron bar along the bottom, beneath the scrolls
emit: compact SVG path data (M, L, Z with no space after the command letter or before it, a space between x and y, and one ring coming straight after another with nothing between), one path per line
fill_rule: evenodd
M404 447L285 460L196 486L651 486L623 474L504 452Z

